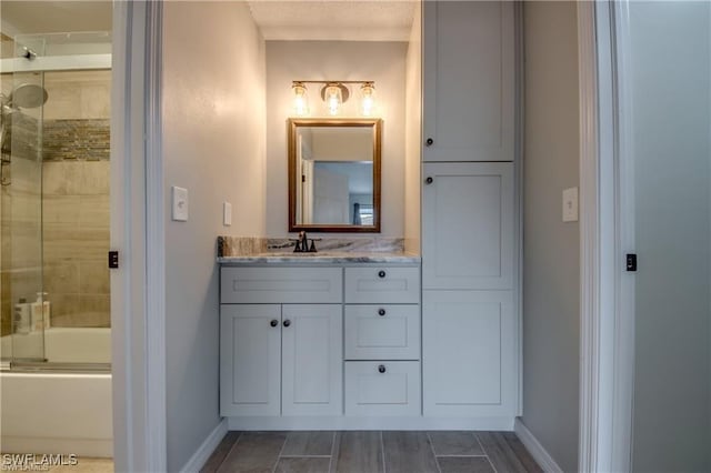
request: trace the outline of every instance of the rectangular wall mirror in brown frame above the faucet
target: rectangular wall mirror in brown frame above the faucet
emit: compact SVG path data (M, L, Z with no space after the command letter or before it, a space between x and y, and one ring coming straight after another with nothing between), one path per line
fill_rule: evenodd
M380 119L289 119L289 231L380 232Z

